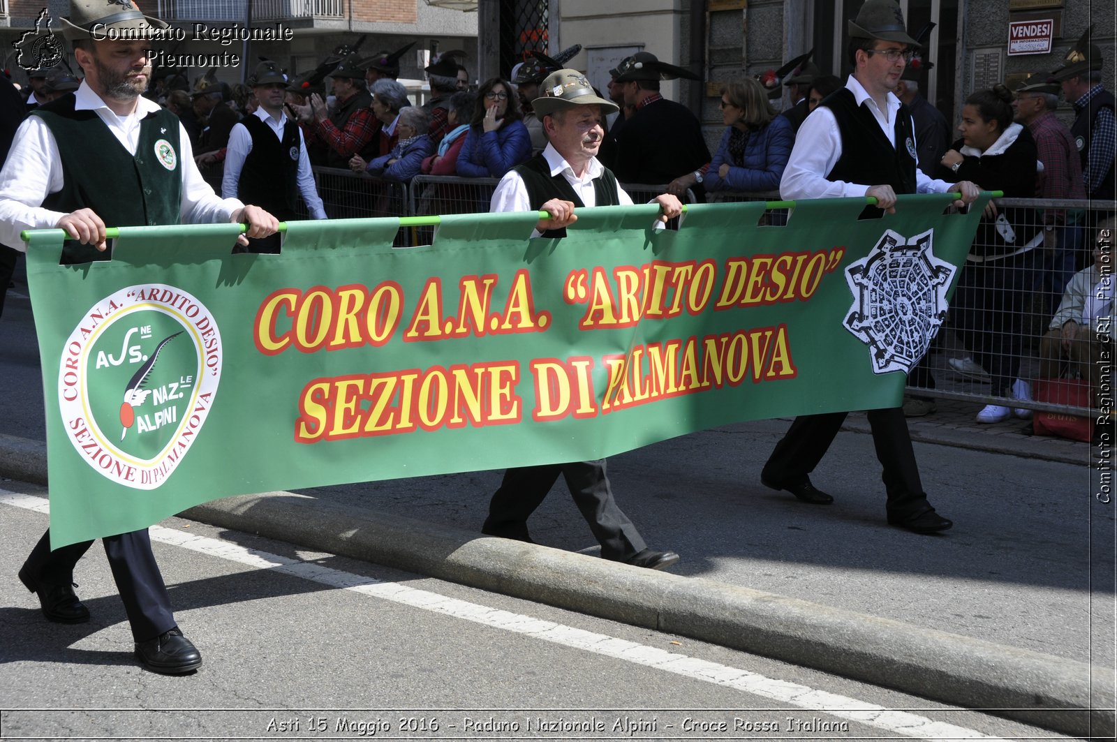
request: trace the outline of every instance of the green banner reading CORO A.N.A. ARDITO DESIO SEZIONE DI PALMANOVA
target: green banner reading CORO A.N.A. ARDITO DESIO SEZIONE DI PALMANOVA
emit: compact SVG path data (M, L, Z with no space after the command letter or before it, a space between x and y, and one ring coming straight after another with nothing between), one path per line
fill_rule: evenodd
M984 198L123 228L59 266L30 235L55 546L218 497L600 458L729 422L899 402Z

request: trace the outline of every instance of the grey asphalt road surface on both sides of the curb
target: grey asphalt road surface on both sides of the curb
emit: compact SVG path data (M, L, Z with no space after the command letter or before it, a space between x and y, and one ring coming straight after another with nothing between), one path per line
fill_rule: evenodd
M9 390L0 397L0 434L42 440L38 353L29 305L18 291L0 321L0 378ZM1114 666L1114 512L1094 496L1086 465L917 444L932 501L956 523L944 535L919 536L884 523L879 465L865 435L839 436L814 477L837 497L834 505L802 505L761 487L760 466L785 426L742 424L610 459L619 502L649 544L682 554L676 574L799 598L867 620L904 621L913 644L938 630L995 643L1009 653ZM367 522L405 517L417 529L423 523L452 529L468 540L498 481L499 473L479 472L299 494ZM165 536L156 536L156 553L180 621L206 665L195 676L163 678L131 658L123 611L97 546L76 578L95 612L93 624L41 620L15 572L46 524L39 512L45 502L37 498L45 493L10 481L0 482L0 489L9 565L9 579L0 581L6 636L0 708L12 710L0 714L0 739L347 739L401 732L537 739L544 731L525 729L524 719L554 708L566 710L547 716L555 723L585 710L598 712L598 721L610 716L610 729L584 731L570 721L552 739L682 739L690 710L724 710L703 712L708 723L691 725L690 739L1051 734L685 632L637 628L322 553L313 538L295 546L245 532L251 527L214 529L180 519L156 529ZM246 522L250 526L250 519ZM543 545L595 551L561 489L531 525ZM188 541L204 536L198 542L204 548L185 545L182 534ZM276 558L261 562L246 549ZM325 567L336 572L315 571ZM401 598L400 588L419 592ZM431 608L445 599L480 608ZM540 626L533 619L572 632L544 627L533 634L527 629ZM850 715L850 707L866 703L877 708ZM74 708L85 711L65 711ZM202 708L211 711L187 711ZM435 712L442 719L439 730L429 722L424 729L400 723ZM471 726L466 733L464 712L506 724L502 731ZM657 729L611 726L622 716L649 722L652 712L659 714ZM803 724L787 722L789 715ZM338 717L345 720L341 727ZM744 720L742 726L733 726L735 717ZM811 721L815 717L821 721ZM299 720L298 727L284 727L292 719ZM328 729L319 729L319 719ZM385 730L372 724L378 719L394 721ZM516 720L518 731L508 726ZM729 726L722 729L722 721ZM842 721L847 727L833 725Z

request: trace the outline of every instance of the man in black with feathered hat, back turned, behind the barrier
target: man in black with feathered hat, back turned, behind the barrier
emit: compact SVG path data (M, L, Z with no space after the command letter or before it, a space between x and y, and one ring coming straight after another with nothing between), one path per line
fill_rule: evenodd
M710 160L701 125L690 108L659 94L660 80L698 76L648 51L632 55L617 70L633 114L615 134L617 153L605 164L626 183L670 183L685 175L690 185L700 184Z

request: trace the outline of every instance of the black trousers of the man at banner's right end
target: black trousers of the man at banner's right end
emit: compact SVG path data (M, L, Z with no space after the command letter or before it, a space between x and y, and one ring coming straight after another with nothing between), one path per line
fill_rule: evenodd
M801 483L822 460L847 415L828 412L795 418L768 457L762 476L783 486ZM927 495L919 482L904 410L899 407L869 410L868 417L877 458L884 467L881 479L888 493L888 513L905 516L927 510Z

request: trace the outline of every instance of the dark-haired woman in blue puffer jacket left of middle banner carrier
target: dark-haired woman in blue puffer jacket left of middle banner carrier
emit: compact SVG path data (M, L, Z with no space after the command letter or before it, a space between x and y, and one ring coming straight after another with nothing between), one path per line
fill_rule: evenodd
M524 125L512 85L494 77L477 91L481 103L466 143L458 155L458 174L466 178L504 178L532 156L532 137Z

